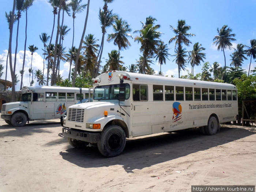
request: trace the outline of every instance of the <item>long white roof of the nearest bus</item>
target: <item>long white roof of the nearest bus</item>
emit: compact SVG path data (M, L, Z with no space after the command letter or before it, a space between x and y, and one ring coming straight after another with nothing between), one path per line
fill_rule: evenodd
M112 74L110 74L112 73ZM100 79L100 83L96 84L109 84L109 79L112 77L113 83L120 82L120 75L127 76L127 80L131 80L132 83L144 83L144 84L159 84L159 85L176 85L176 86L187 86L187 87L206 87L206 88L219 88L219 89L236 89L236 86L229 83L217 83L217 82L208 82L201 80L193 79L181 79L181 78L172 78L161 75L146 75L139 73L131 73L125 71L110 71L104 74L99 75L97 78ZM111 76L111 77L110 77ZM95 79L97 79L95 78ZM108 83L107 83L108 82ZM127 81L124 80L124 83Z

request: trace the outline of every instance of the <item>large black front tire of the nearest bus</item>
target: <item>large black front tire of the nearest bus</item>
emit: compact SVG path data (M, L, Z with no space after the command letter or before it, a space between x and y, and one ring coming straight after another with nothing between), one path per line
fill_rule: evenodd
M105 157L115 157L123 152L125 144L124 130L117 125L110 125L102 131L97 146L99 152Z

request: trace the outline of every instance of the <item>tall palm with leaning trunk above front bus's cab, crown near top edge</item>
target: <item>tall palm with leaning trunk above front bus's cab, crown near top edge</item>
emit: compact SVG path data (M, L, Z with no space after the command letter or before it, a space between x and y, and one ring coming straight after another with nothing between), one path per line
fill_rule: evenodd
M117 19L117 15L112 14L112 10L111 11L108 10L108 3L112 3L113 0L103 0L103 1L104 1L103 11L101 9L99 9L99 21L101 23L101 29L102 29L101 46L99 47L99 53L97 55L97 60L98 60L98 58L99 58L99 60L95 61L95 67L97 67L97 68L92 75L93 77L97 76L97 74L99 72L99 66L101 64L101 56L103 53L106 28L109 27L110 25L112 25L114 20Z

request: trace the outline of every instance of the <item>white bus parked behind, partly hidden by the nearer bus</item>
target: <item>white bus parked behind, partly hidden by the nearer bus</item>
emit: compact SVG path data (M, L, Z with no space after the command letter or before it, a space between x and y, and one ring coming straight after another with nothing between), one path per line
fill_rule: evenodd
M67 108L81 99L89 99L89 88L34 86L21 89L22 101L5 103L1 118L15 127L31 120L60 118Z

